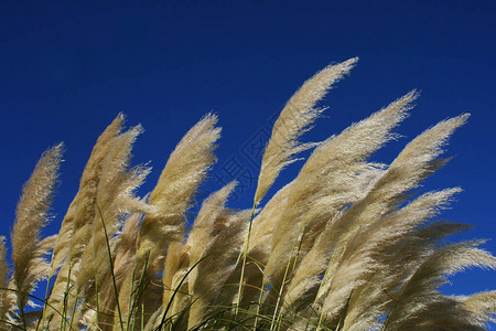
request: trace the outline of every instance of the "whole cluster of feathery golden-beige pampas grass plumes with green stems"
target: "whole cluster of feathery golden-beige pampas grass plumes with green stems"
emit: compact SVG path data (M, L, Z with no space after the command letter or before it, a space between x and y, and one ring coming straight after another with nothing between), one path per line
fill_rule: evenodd
M368 161L408 115L416 92L320 143L301 143L315 107L356 63L330 65L291 97L266 147L250 210L226 207L231 182L186 212L215 162L220 135L206 115L171 153L153 191L131 166L140 126L119 115L98 138L58 235L42 238L63 146L41 157L12 229L0 242L1 330L484 330L496 291L445 296L466 267L495 268L482 241L435 221L459 188L411 195L442 167L442 148L468 115L443 120L390 164ZM298 177L262 203L280 171L308 149ZM34 298L46 280L45 299ZM37 303L37 308L26 309ZM41 303L41 305L40 305Z

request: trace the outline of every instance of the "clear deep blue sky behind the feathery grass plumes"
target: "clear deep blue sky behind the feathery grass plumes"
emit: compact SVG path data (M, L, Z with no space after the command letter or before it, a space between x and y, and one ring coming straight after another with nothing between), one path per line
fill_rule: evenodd
M270 131L274 114L316 71L359 56L304 140L323 140L419 88L418 106L398 129L405 137L375 156L390 162L423 129L472 113L448 149L455 158L419 192L462 186L443 216L476 225L463 238L496 237L494 1L143 2L0 2L0 235L9 236L40 154L64 141L57 216L46 228L56 233L96 138L119 111L145 128L134 160L152 160L154 172L142 192L209 110L224 131L204 190L220 188L215 178L233 160L255 174L247 143ZM245 180L234 207L251 206L255 183ZM496 253L494 242L485 247ZM462 274L446 291L495 289L494 275Z

